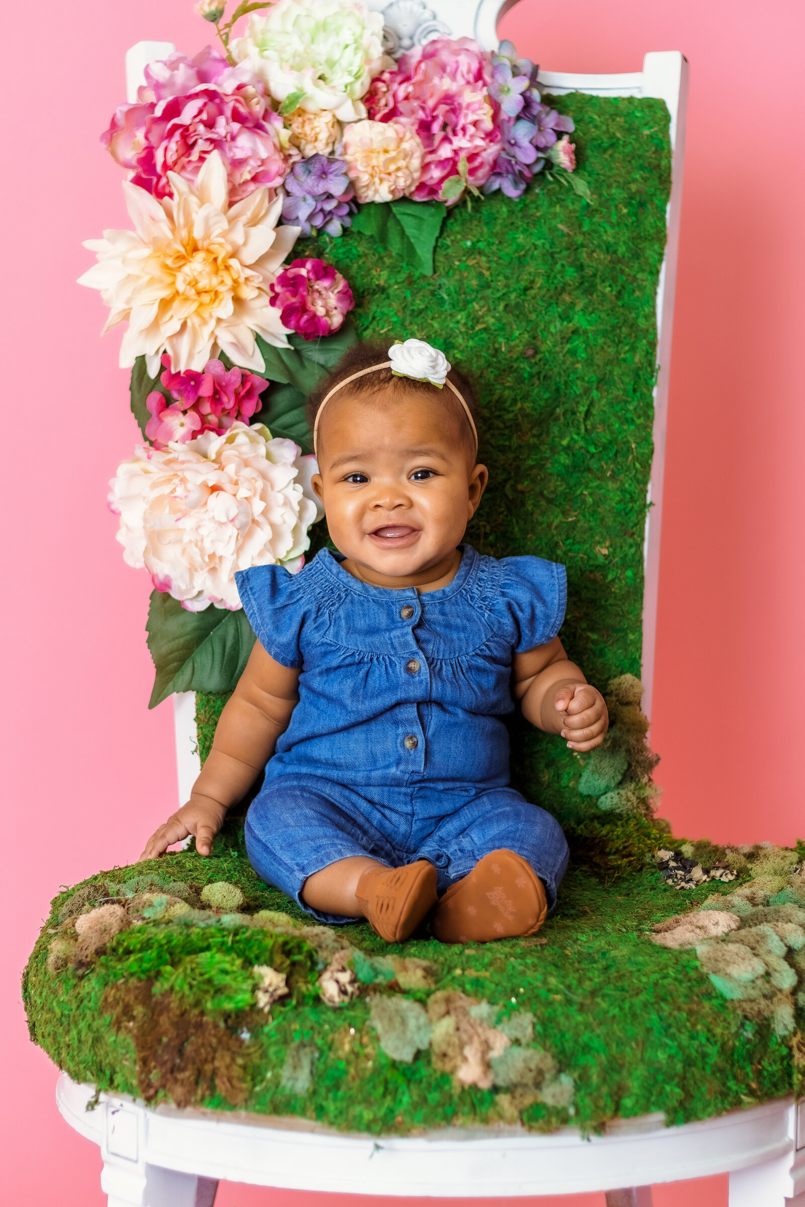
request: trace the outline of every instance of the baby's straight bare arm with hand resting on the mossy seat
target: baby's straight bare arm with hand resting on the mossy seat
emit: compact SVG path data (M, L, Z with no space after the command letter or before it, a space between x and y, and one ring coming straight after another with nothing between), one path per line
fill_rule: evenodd
M255 643L246 669L224 705L215 740L189 801L148 839L141 859L156 859L173 842L196 835L209 855L227 809L240 800L274 753L299 699L299 671L282 666Z

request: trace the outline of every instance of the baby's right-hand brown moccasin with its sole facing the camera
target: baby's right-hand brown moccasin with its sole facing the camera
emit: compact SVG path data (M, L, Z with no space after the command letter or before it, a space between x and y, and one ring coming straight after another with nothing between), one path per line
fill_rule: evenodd
M548 915L546 890L514 851L491 851L450 885L431 925L439 943L491 943L533 934Z

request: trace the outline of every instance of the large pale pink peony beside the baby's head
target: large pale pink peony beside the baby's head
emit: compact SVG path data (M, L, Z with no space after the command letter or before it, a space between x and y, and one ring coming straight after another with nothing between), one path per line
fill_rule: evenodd
M239 608L235 571L302 568L319 514L298 480L308 460L293 441L240 421L226 436L136 448L110 483L126 562L145 567L157 590L191 612Z

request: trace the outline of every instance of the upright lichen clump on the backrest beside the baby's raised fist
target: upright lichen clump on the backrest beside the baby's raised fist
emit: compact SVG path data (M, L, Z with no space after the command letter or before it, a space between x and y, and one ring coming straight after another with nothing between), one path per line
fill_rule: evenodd
M659 762L648 745L648 717L640 701L643 684L634 675L612 680L605 695L609 730L601 746L584 758L578 791L596 797L597 807L608 814L654 816L658 788L652 771Z

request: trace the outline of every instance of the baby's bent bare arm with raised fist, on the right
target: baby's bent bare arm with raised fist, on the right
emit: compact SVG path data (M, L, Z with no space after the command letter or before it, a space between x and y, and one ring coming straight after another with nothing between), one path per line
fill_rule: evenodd
M571 750L600 746L609 718L603 696L571 663L559 637L512 659L512 695L537 729L561 734Z

